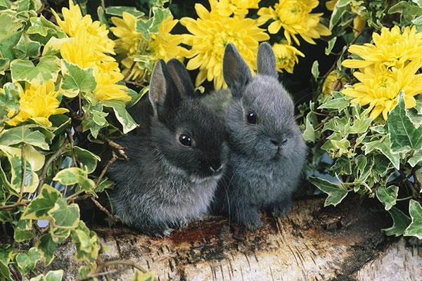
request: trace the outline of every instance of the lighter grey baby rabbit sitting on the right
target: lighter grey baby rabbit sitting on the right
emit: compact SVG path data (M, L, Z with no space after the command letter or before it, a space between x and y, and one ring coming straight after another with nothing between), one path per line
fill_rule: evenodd
M262 226L259 210L279 216L290 211L306 145L293 117L293 102L277 79L269 44L260 44L255 77L233 44L226 46L223 64L232 96L226 105L230 156L213 209L255 230ZM227 104L227 98L219 104Z

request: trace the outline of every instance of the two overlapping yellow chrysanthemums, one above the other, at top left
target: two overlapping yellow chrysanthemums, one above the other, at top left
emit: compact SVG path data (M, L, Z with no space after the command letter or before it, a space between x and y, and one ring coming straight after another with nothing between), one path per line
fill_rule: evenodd
M55 11L58 25L70 39L60 46L60 55L69 63L79 67L93 67L96 79L94 95L98 100L131 100L126 86L116 84L124 76L114 55L114 42L108 38L106 25L93 21L90 15L82 16L79 6L69 1L69 8L63 8L62 20Z

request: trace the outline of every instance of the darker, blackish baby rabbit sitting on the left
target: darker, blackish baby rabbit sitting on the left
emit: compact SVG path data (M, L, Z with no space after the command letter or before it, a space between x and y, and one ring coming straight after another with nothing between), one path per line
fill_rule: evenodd
M110 167L118 218L161 237L207 212L224 170L224 122L196 95L179 60L159 60L149 100L132 109L140 127L120 142L129 161Z

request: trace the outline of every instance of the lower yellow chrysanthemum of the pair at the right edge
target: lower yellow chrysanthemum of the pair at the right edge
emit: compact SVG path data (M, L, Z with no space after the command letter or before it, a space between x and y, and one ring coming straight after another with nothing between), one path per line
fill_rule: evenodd
M363 72L354 72L354 77L360 82L343 89L342 93L354 98L351 103L369 105L373 119L382 113L383 118L387 120L388 113L397 105L400 91L404 91L406 108L416 105L414 96L422 93L422 74L416 74L420 67L422 60L390 68L377 63L365 67Z

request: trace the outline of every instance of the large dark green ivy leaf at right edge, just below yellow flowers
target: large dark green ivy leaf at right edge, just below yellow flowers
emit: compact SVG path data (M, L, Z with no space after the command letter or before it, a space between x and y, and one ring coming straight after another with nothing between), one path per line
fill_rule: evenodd
M399 93L399 103L388 115L388 131L393 152L408 152L422 148L422 126L415 128L406 114L404 93Z

